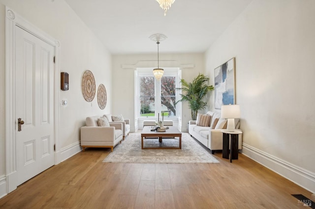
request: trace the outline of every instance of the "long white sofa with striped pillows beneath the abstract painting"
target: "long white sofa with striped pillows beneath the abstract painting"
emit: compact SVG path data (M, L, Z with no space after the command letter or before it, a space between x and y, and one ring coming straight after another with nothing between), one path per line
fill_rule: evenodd
M223 133L221 132L226 123L226 119L220 118L220 112L211 112L208 111L207 115L211 115L211 120L208 127L197 126L196 121L189 121L189 134L201 142L204 146L209 148L212 151L212 154L215 151L221 151L223 146ZM218 124L213 127L213 123L216 118L219 118ZM220 124L219 124L220 123ZM235 129L238 131L240 127L240 120L235 119ZM226 128L225 128L226 129ZM238 136L238 149L242 150L242 134Z

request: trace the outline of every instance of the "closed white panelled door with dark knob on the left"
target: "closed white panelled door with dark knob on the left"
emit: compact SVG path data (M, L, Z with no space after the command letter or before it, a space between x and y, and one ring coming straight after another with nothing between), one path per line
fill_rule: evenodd
M15 120L18 183L54 165L54 47L16 26ZM19 130L18 118L24 122ZM22 123L23 123L22 122Z

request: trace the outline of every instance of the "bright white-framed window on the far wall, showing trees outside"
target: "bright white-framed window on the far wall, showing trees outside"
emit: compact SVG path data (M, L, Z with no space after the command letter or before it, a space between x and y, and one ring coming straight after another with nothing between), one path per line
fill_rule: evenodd
M179 104L180 70L178 68L164 69L160 80L155 79L151 68L137 69L136 72L136 114L138 118L177 117Z

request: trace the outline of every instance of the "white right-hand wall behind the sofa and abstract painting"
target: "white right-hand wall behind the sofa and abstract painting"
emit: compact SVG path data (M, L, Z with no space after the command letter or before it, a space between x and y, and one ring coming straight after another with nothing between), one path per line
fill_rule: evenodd
M314 0L253 0L206 52L211 78L235 57L244 154L313 192L314 11Z

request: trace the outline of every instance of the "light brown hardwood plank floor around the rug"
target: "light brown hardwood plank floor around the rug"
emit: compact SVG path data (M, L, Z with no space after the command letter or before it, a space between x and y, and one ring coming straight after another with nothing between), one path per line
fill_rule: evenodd
M127 140L127 139L126 139ZM0 199L1 209L295 209L311 193L240 154L230 163L104 163L86 149ZM313 200L314 201L314 200ZM308 207L307 207L308 208Z

